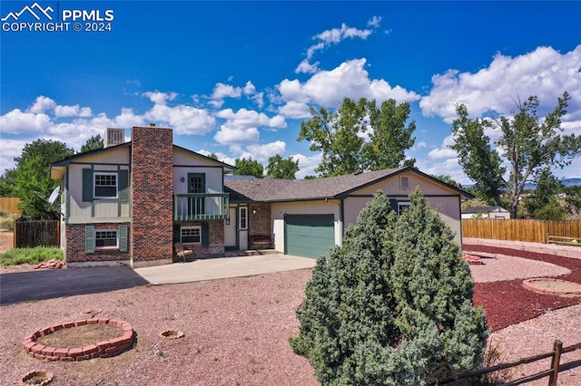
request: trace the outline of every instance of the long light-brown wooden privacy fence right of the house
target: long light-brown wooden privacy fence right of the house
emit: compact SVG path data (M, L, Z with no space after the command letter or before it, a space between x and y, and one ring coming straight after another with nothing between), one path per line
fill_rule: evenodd
M581 238L581 221L462 219L462 236L547 243L547 235Z

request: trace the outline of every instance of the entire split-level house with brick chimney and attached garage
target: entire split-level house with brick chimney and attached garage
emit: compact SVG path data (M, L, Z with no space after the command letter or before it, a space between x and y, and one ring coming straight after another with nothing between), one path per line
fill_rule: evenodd
M273 248L326 255L381 189L399 213L419 188L461 242L460 201L471 196L413 168L326 179L251 179L176 146L172 129L108 129L105 148L51 165L61 181L61 244L67 264L171 264L174 244L192 258Z

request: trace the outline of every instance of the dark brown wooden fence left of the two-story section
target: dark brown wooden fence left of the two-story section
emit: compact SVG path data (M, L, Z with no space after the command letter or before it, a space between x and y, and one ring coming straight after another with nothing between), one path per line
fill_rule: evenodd
M60 246L59 221L16 221L15 248L34 246Z

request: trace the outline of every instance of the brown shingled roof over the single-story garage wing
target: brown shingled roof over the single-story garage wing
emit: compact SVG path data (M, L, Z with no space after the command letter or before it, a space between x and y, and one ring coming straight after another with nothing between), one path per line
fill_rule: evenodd
M304 201L325 198L346 198L350 192L365 188L404 171L410 171L458 192L472 196L458 188L434 179L418 169L396 168L367 171L323 179L224 179L225 190L231 193L232 202L281 202Z

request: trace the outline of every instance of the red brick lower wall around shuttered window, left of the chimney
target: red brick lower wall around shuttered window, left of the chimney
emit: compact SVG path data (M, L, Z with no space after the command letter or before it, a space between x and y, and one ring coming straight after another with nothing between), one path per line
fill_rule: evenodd
M85 227L87 225L94 226L95 230L99 229L116 229L119 230L119 226L122 224L66 224L66 262L67 263L85 263L85 262L98 262L98 261L119 261L119 260L129 260L129 252L119 252L117 249L103 249L95 250L93 254L87 254L84 252L84 238L85 238ZM129 243L129 235L131 234L131 228L129 224L123 224L128 226L127 232L127 242ZM127 246L129 250L129 245Z

